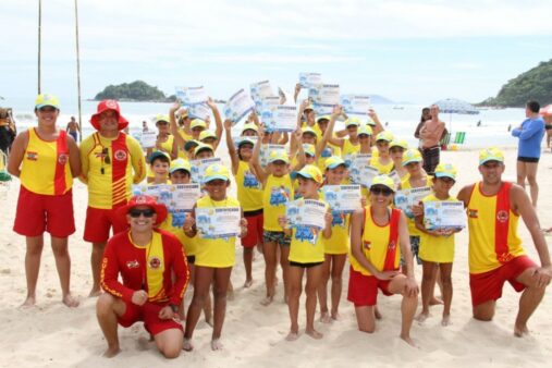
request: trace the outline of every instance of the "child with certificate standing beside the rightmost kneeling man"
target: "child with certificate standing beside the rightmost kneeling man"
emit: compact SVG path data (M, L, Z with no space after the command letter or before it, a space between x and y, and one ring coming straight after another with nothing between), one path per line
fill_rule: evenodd
M456 181L456 168L450 163L439 163L433 177L433 194L425 197L422 204L457 199L451 196L450 191ZM424 233L421 236L419 256L424 268L421 280L422 309L417 320L422 322L429 317L429 305L432 290L436 285L437 269L439 267L443 292L442 326L449 326L451 319L452 302L452 262L454 260L454 233L459 229L428 230L424 225L424 216L416 217L416 228Z

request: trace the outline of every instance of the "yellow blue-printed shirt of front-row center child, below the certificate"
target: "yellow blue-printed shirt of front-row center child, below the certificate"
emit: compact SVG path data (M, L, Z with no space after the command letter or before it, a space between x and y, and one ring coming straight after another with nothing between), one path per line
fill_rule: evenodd
M328 210L328 204L323 204ZM324 242L322 229L314 226L294 228L292 230L292 243L290 245L289 259L299 263L323 262Z

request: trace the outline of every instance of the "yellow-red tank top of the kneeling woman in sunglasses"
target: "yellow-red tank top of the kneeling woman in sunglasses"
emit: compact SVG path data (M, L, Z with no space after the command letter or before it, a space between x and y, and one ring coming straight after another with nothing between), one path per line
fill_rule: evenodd
M398 237L393 236L393 238L391 238L391 232L398 232L398 229L395 228L398 228L401 212L397 209L393 209L390 210L390 213L389 223L384 226L380 226L372 220L370 206L365 207L365 222L360 247L366 259L379 271L383 271L384 269L397 270L401 260ZM371 274L367 269L360 266L352 253L349 253L348 260L355 271L364 275ZM385 265L385 260L388 260L390 265Z

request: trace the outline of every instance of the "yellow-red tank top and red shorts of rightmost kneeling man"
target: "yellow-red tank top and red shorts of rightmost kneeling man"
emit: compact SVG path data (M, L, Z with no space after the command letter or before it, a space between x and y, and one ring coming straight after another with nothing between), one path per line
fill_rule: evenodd
M519 214L510 206L512 183L504 182L499 193L486 196L481 183L471 189L467 206L469 226L469 286L474 306L496 300L504 282L516 292L525 285L515 279L537 265L526 256L517 234Z

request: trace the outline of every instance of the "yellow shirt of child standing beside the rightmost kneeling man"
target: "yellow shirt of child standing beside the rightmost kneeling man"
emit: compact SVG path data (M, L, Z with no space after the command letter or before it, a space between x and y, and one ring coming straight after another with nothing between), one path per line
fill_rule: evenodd
M456 200L456 197L439 199L434 194L430 194L421 201ZM419 257L421 260L436 263L452 263L454 260L454 234L450 236L433 236L422 233L420 236Z

